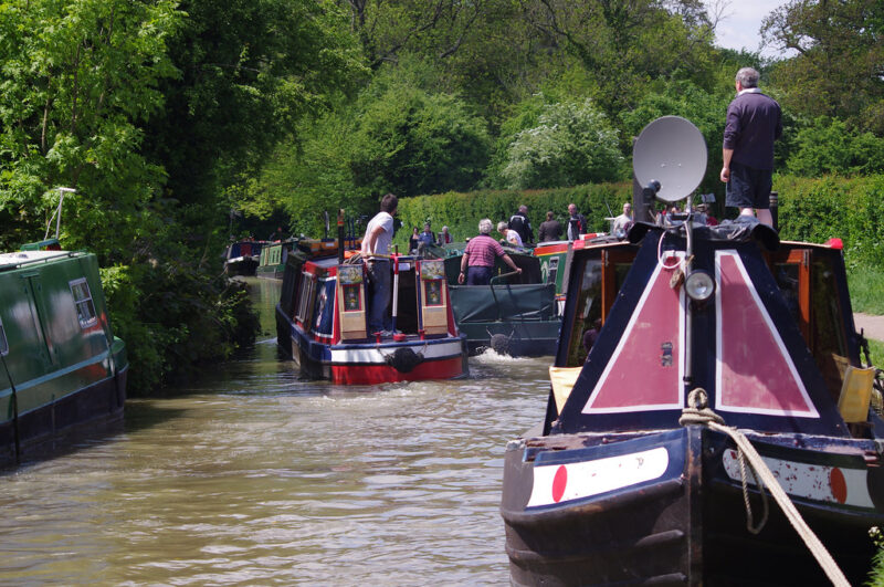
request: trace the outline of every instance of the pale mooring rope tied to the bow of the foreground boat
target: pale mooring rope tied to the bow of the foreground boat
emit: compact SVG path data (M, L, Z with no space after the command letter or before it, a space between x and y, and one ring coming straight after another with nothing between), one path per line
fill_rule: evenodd
M736 428L725 426L724 419L708 407L706 390L703 388L696 388L691 391L691 394L687 396L687 405L688 407L682 410L682 417L678 419L680 424L706 426L712 430L724 432L725 434L729 436L737 446L743 474L744 501L746 502L749 515L749 531L755 534L760 532L761 527L765 525L765 521L767 520L767 504L765 505L764 520L759 524L756 532L751 526L751 511L748 510L749 499L748 489L746 485L744 459L748 459L749 461L749 468L753 471L753 476L756 479L756 484L758 485L761 495L765 495L765 485L767 485L767 488L770 490L770 493L774 495L774 499L777 501L779 506L782 509L782 512L786 514L786 517L789 520L789 523L792 525L796 532L798 532L798 535L801 537L801 539L804 541L804 544L820 564L823 572L825 572L825 575L829 577L829 580L832 581L832 585L836 585L839 587L850 587L850 583L848 583L846 577L844 577L844 574L838 567L838 564L835 563L834 558L832 558L832 555L829 554L829 551L825 549L825 546L822 544L822 542L820 542L820 538L817 537L813 531L810 530L810 526L808 526L807 522L804 522L804 520L801 517L798 509L789 499L789 495L777 482L777 478L774 476L774 473L770 471L770 469L768 469L767 464L765 464L761 455L758 454L757 450L755 450L755 447L753 447L751 442L749 442L749 439L747 439L746 436ZM760 483L758 483L758 481L760 481Z

